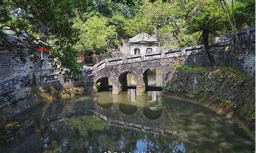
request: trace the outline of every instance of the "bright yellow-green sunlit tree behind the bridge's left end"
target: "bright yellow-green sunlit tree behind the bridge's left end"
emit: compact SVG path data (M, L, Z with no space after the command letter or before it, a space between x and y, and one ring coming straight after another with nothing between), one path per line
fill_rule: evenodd
M79 40L74 44L75 50L80 50L83 55L112 52L118 44L117 32L114 25L108 25L106 17L93 16L83 22L76 18L73 28L79 31ZM112 47L113 45L113 47Z

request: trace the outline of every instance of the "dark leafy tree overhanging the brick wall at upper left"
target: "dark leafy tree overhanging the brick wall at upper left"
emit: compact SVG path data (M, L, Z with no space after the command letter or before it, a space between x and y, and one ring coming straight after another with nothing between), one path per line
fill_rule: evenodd
M74 2L4 0L0 3L0 29L17 35L26 33L25 39L18 39L16 43L9 42L4 35L0 35L4 45L17 53L20 60L24 63L28 59L43 62L32 56L34 41L39 36L42 41L51 43L50 56L55 59L53 62L55 68L70 74L67 76L81 72L77 63L77 53L71 47L76 41L76 32L71 27L72 18L75 16ZM25 48L28 51L25 52Z

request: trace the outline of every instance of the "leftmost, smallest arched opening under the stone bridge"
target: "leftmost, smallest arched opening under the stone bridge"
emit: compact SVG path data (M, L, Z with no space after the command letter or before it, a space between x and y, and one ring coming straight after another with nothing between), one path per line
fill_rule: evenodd
M100 78L96 81L96 90L99 91L112 91L112 82L106 77Z

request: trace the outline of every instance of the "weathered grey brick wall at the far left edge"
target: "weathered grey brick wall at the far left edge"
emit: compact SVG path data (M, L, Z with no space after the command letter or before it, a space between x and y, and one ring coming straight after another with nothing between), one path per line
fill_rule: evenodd
M0 54L0 107L29 94L33 71L31 66L31 62L20 62L14 53Z

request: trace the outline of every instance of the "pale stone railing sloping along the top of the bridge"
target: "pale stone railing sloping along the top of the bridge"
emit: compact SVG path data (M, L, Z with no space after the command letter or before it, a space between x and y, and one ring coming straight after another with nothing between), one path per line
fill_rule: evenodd
M94 75L95 73L97 73L97 71L107 66L119 65L119 64L130 64L130 63L143 62L148 60L157 60L161 58L173 58L178 56L190 55L191 53L203 52L203 50L204 50L203 45L197 45L197 46L183 47L178 49L164 49L162 52L150 53L145 55L134 55L130 57L105 59L95 64L93 67L83 69L83 72L84 72L84 76L90 76L90 75Z

